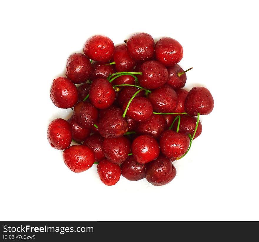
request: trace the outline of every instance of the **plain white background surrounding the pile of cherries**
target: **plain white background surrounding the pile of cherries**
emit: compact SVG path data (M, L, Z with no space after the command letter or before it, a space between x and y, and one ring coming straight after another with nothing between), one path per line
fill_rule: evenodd
M1 3L1 220L258 220L258 8L256 1L4 1ZM186 89L215 101L202 134L155 187L124 177L112 187L96 165L76 174L47 141L71 110L49 98L67 57L94 34L119 44L135 32L177 39Z

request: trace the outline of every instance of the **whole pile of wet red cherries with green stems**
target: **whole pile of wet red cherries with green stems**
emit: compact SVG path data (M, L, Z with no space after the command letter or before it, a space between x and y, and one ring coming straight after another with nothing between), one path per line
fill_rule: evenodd
M95 35L85 42L84 54L69 56L67 77L53 80L50 98L73 114L49 124L48 140L64 150L73 172L97 163L106 185L121 175L165 185L176 175L172 162L201 134L199 117L212 111L214 101L204 87L183 89L192 68L177 64L183 49L175 39L155 44L150 34L137 33L125 43L114 47L108 37Z

